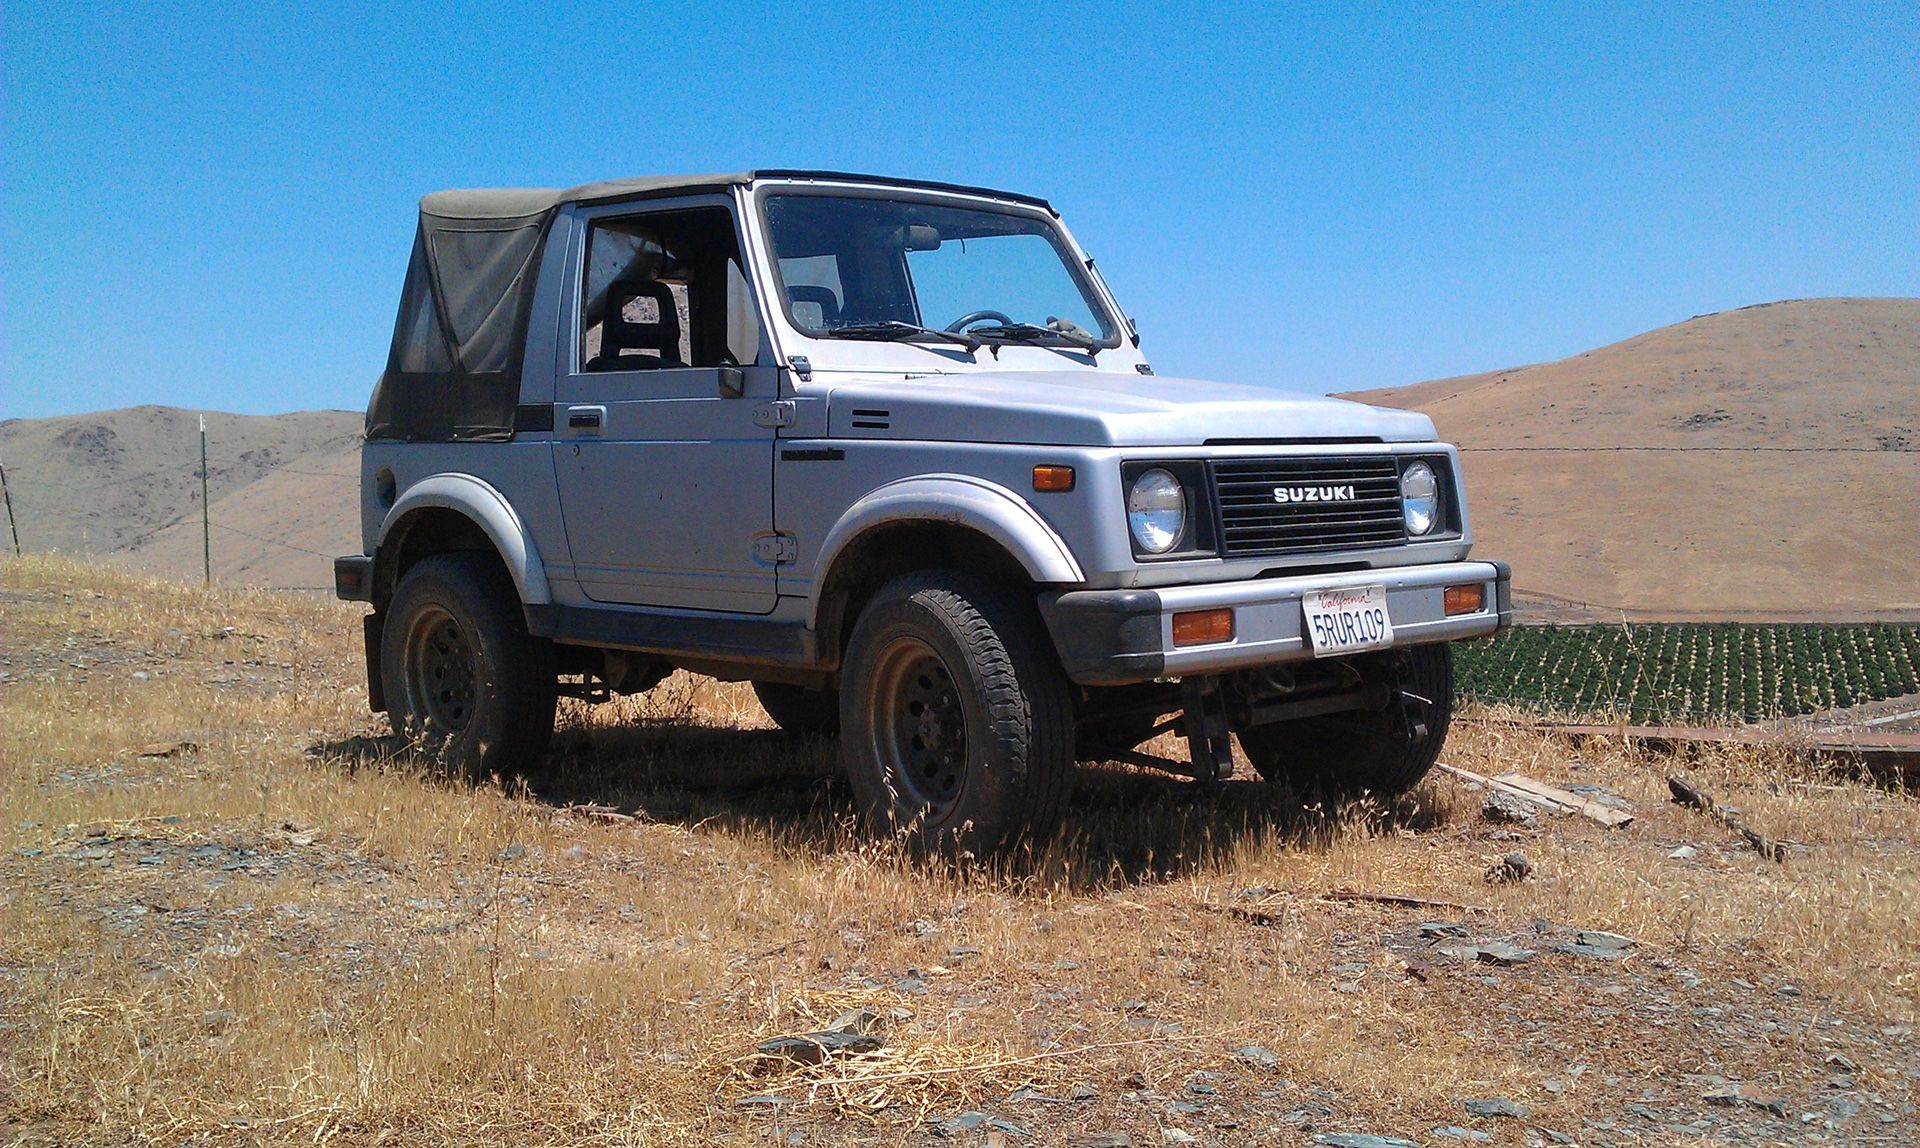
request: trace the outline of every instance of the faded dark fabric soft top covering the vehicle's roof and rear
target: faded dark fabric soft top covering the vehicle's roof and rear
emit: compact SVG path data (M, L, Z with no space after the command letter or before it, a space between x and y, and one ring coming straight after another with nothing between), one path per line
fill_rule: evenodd
M526 321L540 251L563 203L614 203L718 192L756 179L831 179L973 192L1046 207L1044 200L960 184L833 171L649 175L576 188L476 188L420 200L386 372L367 407L369 440L505 442L520 401Z

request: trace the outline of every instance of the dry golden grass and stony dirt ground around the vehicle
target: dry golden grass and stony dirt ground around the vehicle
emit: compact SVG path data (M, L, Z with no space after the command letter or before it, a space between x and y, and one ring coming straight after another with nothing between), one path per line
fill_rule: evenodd
M10 1144L1920 1144L1920 801L1788 758L1455 729L1617 829L1087 766L937 868L741 685L470 787L367 714L353 607L0 572Z

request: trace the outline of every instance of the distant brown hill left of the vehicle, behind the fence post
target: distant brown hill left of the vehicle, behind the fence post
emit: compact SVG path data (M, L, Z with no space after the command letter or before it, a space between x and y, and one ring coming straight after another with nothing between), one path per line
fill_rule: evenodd
M330 586L359 543L353 411L207 415L213 576L227 584ZM0 463L27 551L111 555L198 578L200 415L129 407L0 422Z

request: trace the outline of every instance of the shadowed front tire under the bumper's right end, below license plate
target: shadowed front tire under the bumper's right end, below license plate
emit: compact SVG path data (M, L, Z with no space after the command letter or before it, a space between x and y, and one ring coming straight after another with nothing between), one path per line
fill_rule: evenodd
M1350 801L1394 799L1432 770L1453 718L1453 649L1446 643L1407 651L1402 689L1428 699L1423 741L1400 731L1398 699L1384 710L1323 714L1240 731L1240 749L1267 781L1302 795Z

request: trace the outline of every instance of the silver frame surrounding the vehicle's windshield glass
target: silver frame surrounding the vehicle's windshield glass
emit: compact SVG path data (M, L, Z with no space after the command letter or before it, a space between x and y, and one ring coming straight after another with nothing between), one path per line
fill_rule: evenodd
M774 248L774 234L768 223L766 205L774 196L820 196L837 200L895 200L908 203L931 203L939 207L954 207L964 211L985 211L995 215L1012 215L1041 225L1044 238L1052 244L1054 253L1060 257L1062 269L1073 282L1073 288L1081 294L1081 299L1092 311L1092 317L1100 321L1108 332L1091 347L1081 347L1066 340L1058 342L1031 342L1031 340L983 340L985 347L1008 349L1008 347L1027 347L1041 351L1069 351L1075 355L1085 355L1089 351L1104 353L1123 347L1131 340L1131 324L1125 313L1119 309L1117 301L1106 288L1106 282L1092 273L1091 259L1073 242L1066 227L1060 223L1060 215L1039 202L1025 202L1016 198L996 198L991 194L964 194L964 192L945 192L935 188L920 188L912 184L866 184L866 182L812 182L812 180L768 180L758 182L751 188L751 213L756 234L756 255L762 261L762 273L768 278L772 290L766 292L766 311L768 317L780 324L787 336L799 336L801 340L816 346L849 346L856 340L835 338L829 328L810 328L803 326L793 317L793 301L787 294L787 280L780 271L780 251ZM1094 332L1089 332L1094 334ZM870 344L872 346L872 344ZM933 340L900 340L887 346L912 346L922 349L947 349L960 351L958 346L933 342ZM985 349L983 347L983 349Z

